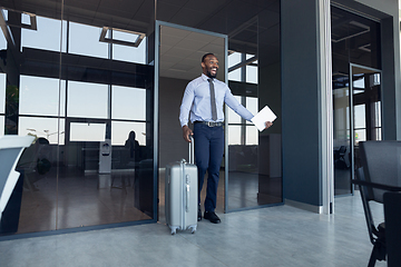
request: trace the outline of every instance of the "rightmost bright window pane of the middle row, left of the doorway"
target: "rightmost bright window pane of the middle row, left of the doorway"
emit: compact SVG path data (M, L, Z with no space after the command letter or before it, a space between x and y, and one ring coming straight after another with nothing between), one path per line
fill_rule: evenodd
M146 90L111 87L111 119L146 120Z

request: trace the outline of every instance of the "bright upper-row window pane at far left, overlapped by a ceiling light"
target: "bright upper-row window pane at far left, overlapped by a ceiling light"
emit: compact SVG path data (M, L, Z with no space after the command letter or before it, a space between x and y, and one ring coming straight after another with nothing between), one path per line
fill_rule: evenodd
M60 20L37 16L37 30L21 30L21 47L29 47L50 51L60 51ZM22 16L22 22L30 24L29 16ZM62 23L62 32L67 32L67 22ZM62 39L66 39L63 37ZM66 46L62 47L66 52Z

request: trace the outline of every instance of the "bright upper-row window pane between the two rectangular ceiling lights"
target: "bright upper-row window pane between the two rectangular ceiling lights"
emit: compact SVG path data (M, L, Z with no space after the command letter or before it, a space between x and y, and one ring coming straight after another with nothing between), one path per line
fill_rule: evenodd
M69 22L69 51L82 56L108 58L108 43L99 41L101 28Z

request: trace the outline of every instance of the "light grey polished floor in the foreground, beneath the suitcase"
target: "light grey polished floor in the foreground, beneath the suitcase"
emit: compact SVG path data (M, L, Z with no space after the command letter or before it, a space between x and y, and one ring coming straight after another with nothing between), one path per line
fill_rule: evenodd
M202 220L194 235L172 236L158 222L0 241L0 265L366 266L372 249L358 195L336 198L330 216L283 205L221 218Z

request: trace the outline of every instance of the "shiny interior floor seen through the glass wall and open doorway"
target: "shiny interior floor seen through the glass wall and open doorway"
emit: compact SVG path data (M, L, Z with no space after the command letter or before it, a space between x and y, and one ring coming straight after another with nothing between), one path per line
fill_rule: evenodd
M134 169L111 175L85 175L81 170L70 168L61 170L58 179L56 168L45 175L26 174L17 234L151 219L148 214L138 209L139 191L143 196L147 195L151 202L151 192L146 190L151 185L143 184L141 187L136 188L138 184L135 184L134 177ZM217 212L224 212L224 179L222 171ZM282 202L281 185L281 178L270 179L232 171L228 185L228 209ZM206 188L202 191L203 200L205 195ZM258 197L261 195L263 198ZM158 204L160 221L165 220L164 199L165 172L162 169Z

